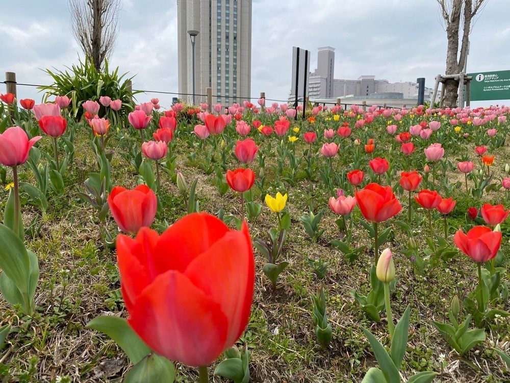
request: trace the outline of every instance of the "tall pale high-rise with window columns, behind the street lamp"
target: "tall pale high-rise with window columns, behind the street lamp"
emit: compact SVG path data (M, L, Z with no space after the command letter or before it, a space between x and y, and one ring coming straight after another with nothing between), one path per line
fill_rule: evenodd
M191 40L195 39L195 94L212 88L213 103L250 97L251 0L177 0L179 92L192 93ZM191 96L180 96L191 102ZM205 100L195 97L195 103Z

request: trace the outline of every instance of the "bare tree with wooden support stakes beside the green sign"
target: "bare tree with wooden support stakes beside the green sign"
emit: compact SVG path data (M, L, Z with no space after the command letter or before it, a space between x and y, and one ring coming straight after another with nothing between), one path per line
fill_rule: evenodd
M473 18L480 13L489 0L437 0L448 38L446 51L446 75L456 75L465 68L468 54L469 34L474 25ZM462 38L460 34L462 32ZM460 51L459 51L460 46ZM443 105L457 106L457 90L459 81L447 79L444 83L445 94Z

